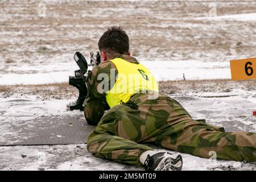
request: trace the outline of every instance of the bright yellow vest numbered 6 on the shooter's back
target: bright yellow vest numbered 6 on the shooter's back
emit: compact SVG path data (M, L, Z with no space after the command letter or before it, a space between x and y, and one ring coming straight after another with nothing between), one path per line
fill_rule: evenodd
M135 93L146 93L149 90L158 92L158 82L144 65L130 63L121 58L110 61L114 63L118 71L113 88L105 95L110 108L121 102L126 103Z

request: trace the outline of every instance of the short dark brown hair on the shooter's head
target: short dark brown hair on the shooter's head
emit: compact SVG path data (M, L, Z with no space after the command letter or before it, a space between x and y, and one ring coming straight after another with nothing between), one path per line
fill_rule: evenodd
M98 48L126 54L129 51L129 37L121 27L108 28L98 41Z

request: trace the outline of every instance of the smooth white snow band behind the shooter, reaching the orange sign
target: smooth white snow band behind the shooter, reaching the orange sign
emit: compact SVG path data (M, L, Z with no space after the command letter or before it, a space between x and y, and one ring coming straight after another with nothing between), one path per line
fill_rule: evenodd
M228 62L202 62L195 60L187 61L141 61L154 73L158 81L163 80L182 80L183 73L187 80L202 80L202 79L226 79L231 78L229 61ZM55 67L53 67L55 68ZM62 67L60 67L62 68ZM66 71L50 72L51 68L46 73L30 73L30 74L5 74L0 75L0 85L15 85L15 84L46 84L56 82L68 82L68 77L73 76L75 69L79 69L72 65L66 64ZM31 67L22 67L16 69L27 70ZM42 68L43 69L43 68ZM64 69L64 68L63 68ZM90 68L92 69L92 68Z

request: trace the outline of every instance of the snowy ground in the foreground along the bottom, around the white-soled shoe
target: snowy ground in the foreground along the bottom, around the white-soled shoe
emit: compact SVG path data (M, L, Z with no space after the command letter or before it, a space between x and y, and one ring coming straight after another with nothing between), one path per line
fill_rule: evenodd
M156 147L155 149L169 151ZM121 163L95 158L87 151L85 144L0 147L0 151L1 170L144 170L141 167L126 166ZM188 154L181 155L183 157L183 170L222 171L256 169L256 163L226 160L215 161Z

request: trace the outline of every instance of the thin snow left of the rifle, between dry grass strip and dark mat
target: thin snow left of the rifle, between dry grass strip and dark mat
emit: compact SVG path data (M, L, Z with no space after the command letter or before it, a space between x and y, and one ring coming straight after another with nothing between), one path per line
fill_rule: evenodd
M9 144L28 139L36 133L22 133L15 127L35 127L35 119L47 117L76 117L84 118L84 115L75 110L68 111L67 105L74 100L42 100L39 96L15 94L12 97L1 98L0 101L0 142L9 141ZM47 121L46 121L47 122ZM52 124L52 121L49 121ZM39 126L36 126L39 127ZM20 133L19 133L20 132ZM51 136L52 137L52 136ZM56 137L61 137L57 136ZM8 142L7 142L8 143Z

